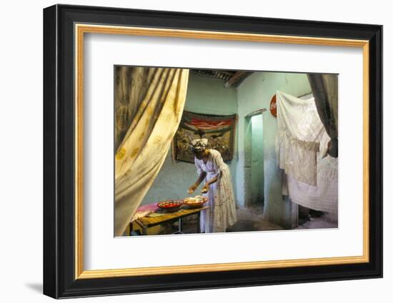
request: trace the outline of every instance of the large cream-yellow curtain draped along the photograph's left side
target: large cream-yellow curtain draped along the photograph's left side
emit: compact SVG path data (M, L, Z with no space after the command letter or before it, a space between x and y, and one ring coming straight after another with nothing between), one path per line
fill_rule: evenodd
M115 73L114 233L121 236L164 164L189 70L118 66Z

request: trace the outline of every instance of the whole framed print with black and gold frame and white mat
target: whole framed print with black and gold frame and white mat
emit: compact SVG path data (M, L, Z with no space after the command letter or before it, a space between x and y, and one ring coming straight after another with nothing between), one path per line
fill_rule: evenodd
M382 277L382 26L44 9L44 294Z

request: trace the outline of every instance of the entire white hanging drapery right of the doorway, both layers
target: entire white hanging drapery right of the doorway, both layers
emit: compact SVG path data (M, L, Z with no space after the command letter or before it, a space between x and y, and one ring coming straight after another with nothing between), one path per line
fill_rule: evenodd
M337 214L338 158L327 155L330 141L314 98L277 91L276 153L284 169L283 194L304 207Z

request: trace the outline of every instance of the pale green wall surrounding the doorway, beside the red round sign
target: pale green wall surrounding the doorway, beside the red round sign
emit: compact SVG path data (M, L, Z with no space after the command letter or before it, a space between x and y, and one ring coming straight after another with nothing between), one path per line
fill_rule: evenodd
M244 205L244 186L247 175L244 174L244 154L248 151L244 145L245 116L261 108L269 110L270 101L276 91L283 91L292 96L302 96L311 91L307 76L301 73L253 73L237 88L239 104L239 141L237 162L237 200ZM277 168L274 143L277 131L277 118L270 111L263 115L263 155L264 155L264 217L283 227L292 225L292 203L283 200L282 171Z

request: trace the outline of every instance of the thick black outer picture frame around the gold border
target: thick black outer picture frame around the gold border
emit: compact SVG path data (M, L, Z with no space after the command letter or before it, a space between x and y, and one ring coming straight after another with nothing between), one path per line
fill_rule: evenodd
M369 41L369 262L75 279L74 24ZM54 298L382 277L382 26L94 6L44 9L44 294Z

